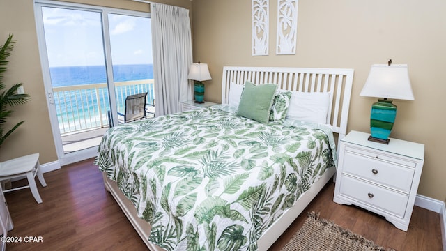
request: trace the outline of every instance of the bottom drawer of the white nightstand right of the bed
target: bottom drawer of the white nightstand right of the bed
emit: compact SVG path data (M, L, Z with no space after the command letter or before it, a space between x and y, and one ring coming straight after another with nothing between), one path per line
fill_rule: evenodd
M404 214L406 213L408 195L358 181L349 176L342 176L339 193L351 198L353 201L358 201L359 206L367 204L371 209L376 208L400 218L404 218Z

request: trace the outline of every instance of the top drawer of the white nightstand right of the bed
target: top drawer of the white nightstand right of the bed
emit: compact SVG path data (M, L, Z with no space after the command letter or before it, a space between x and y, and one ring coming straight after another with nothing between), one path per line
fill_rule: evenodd
M415 169L346 150L343 172L409 193Z

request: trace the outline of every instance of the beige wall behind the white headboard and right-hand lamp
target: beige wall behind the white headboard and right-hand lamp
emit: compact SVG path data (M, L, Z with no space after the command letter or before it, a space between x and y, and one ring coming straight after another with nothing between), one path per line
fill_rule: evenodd
M208 63L206 100L220 101L223 66L353 68L348 130L369 131L375 98L359 93L373 63L407 63L415 101L399 107L391 137L425 144L418 193L446 198L446 2L300 0L295 55L275 55L277 1L270 1L269 56L252 54L248 0L194 0L194 61ZM397 177L396 177L397 178Z

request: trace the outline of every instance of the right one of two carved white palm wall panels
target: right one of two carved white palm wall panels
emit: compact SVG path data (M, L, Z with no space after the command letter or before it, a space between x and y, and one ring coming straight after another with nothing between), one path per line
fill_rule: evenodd
M276 54L295 54L297 33L298 0L278 0Z

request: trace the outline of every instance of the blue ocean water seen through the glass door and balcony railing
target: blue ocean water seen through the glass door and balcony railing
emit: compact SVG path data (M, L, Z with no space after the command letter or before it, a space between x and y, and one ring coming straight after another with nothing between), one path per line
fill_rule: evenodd
M109 93L107 88L79 89L86 84L107 83L105 66L69 66L49 68L53 88L77 86L75 91L55 91L54 104L61 133L108 125ZM115 82L153 79L153 65L113 66ZM148 92L147 102L154 98L152 84L122 86L115 89L118 112L124 113L125 97Z

